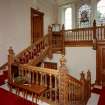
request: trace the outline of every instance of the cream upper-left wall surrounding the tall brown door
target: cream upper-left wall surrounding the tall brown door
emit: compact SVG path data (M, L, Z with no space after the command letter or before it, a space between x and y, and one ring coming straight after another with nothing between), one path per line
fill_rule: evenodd
M47 0L49 1L49 0ZM56 5L44 0L0 0L0 66L7 62L8 48L16 53L30 45L30 8L44 12L44 34L57 18Z

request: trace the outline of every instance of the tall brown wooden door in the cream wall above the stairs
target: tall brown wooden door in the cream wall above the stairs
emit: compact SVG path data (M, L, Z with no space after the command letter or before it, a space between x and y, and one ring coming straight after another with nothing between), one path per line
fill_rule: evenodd
M31 43L43 37L44 14L31 8Z

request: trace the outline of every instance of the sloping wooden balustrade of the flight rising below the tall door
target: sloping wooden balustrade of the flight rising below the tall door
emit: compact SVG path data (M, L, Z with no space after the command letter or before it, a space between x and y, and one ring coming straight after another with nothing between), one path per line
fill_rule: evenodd
M38 40L35 44L29 46L27 49L19 53L14 58L14 62L20 64L33 64L35 60L38 59L38 61L34 63L36 65L43 59L43 57L47 55L48 50L48 35L46 35L44 38Z

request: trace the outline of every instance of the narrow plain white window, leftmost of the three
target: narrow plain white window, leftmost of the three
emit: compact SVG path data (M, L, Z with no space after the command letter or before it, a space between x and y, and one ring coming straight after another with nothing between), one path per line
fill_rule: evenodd
M72 8L67 8L65 10L65 29L72 28Z

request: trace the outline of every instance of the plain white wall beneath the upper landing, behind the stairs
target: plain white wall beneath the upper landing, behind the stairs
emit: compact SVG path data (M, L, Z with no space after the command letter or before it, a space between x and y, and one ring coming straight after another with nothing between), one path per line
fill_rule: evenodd
M58 62L61 54L54 54L53 59L48 58L45 61ZM88 70L92 74L92 83L96 80L96 51L92 47L66 47L65 48L66 66L69 73L77 79L80 79L81 71L87 73Z

